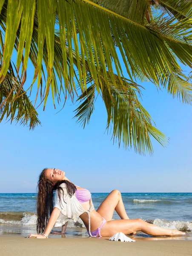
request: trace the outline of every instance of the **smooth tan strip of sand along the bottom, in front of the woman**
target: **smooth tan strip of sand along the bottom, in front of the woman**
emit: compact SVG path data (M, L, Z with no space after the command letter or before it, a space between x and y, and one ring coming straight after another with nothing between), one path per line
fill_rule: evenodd
M192 241L158 238L115 242L102 238L25 239L0 236L0 256L192 256Z

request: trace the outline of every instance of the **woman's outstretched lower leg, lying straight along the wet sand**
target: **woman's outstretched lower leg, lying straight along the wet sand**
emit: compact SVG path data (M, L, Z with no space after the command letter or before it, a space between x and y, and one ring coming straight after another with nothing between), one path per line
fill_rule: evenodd
M101 236L113 236L116 233L123 232L128 235L134 231L142 231L152 236L174 236L185 235L179 230L171 230L149 224L142 219L134 220L113 220L107 221L100 230Z

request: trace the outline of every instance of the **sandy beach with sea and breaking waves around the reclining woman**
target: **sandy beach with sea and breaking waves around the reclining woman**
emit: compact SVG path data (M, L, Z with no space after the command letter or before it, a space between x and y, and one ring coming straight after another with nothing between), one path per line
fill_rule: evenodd
M92 193L97 207L108 193ZM136 242L89 237L83 222L69 221L66 234L25 239L36 233L35 193L0 194L0 256L192 256L192 193L122 193L129 218L186 232L184 237L129 236ZM114 212L113 219L119 216ZM60 227L53 230L61 230Z

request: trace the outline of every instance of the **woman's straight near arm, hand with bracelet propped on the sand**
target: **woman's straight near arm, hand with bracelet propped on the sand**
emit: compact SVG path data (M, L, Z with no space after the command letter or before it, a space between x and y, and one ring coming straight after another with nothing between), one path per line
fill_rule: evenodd
M50 216L50 218L49 218L49 221L48 221L48 223L47 223L47 226L46 226L46 230L45 230L45 232L44 232L44 234L45 234L46 236L49 236L49 233L51 232L51 230L52 230L52 228L53 228L53 226L54 226L54 224L55 224L57 218L59 217L59 215L60 215L60 209L58 209L58 208L55 207L55 208L53 209L53 211L52 211L52 214L51 214L51 216ZM37 238L46 238L46 236L44 236L44 235L38 235L38 234L30 234L30 235L28 236L28 238L29 238L29 237L32 237L32 236L35 236L35 237L37 237Z

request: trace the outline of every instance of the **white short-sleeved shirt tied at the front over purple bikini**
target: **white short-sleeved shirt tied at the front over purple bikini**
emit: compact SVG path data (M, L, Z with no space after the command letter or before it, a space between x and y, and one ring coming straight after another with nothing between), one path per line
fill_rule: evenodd
M87 211L82 207L80 202L77 200L75 195L72 195L70 198L69 194L67 193L66 189L66 183L60 184L60 187L63 189L60 190L60 200L59 200L59 195L58 195L58 189L56 190L55 193L55 201L54 201L54 207L57 207L60 209L60 215L57 218L57 221L55 222L54 227L60 227L63 224L65 224L69 219L72 219L73 221L77 221L79 216L86 212L88 214L88 219L89 219L89 234L91 234L91 224L90 224L90 214L89 212L93 211L95 209L92 198L90 199L90 208Z

